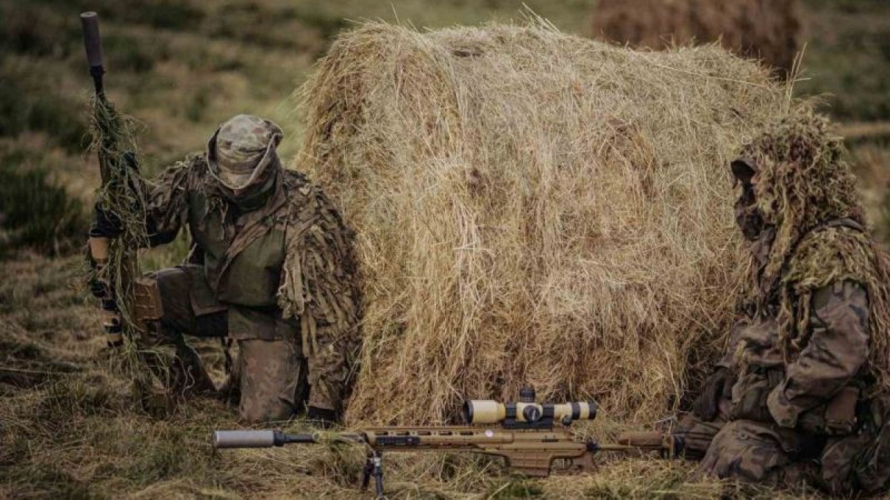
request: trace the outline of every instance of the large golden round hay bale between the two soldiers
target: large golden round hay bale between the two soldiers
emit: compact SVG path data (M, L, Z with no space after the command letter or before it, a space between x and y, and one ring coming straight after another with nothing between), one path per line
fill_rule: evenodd
M348 418L465 398L676 407L732 318L728 160L796 105L715 46L634 52L543 23L346 33L298 92L311 173L357 232Z

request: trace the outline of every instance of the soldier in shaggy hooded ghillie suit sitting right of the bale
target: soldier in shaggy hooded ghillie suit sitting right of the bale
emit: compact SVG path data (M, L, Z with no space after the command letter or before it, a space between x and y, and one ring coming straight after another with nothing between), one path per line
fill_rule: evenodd
M789 117L732 162L751 260L742 319L676 432L700 475L835 494L890 477L890 276L827 127Z

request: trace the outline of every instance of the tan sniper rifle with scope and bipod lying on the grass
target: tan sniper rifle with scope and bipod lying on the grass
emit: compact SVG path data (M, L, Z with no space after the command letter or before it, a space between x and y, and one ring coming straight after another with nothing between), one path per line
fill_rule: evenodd
M464 404L467 425L430 427L374 427L333 434L290 434L282 431L214 431L214 448L271 448L286 444L342 442L368 447L361 474L362 490L375 480L376 497L384 497L384 451L452 451L503 457L514 472L532 477L550 475L562 461L565 470L593 472L594 456L602 451L646 453L675 457L683 441L670 434L627 433L617 444L593 439L576 440L571 423L593 420L595 402L535 403L534 391L525 388L518 402L471 399ZM658 439L652 439L652 436ZM330 436L326 438L325 436Z

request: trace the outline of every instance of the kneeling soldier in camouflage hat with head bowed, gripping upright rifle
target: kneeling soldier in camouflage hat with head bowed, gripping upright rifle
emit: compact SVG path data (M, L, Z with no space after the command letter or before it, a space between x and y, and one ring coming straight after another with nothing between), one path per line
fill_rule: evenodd
M319 188L282 167L281 138L269 120L233 117L204 155L147 183L149 245L187 226L192 247L188 263L151 275L162 312L142 344L175 347L175 390L214 391L183 335L228 336L239 346L239 383L229 385L242 420L283 420L306 404L329 423L358 349L352 236ZM97 226L113 227L108 219L97 210Z

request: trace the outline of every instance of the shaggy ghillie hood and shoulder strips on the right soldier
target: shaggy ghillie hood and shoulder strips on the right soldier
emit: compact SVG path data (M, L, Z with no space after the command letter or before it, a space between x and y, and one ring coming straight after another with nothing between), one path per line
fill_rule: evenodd
M746 295L752 305L766 307L778 293L777 323L784 343L804 343L813 293L849 279L862 283L870 300L870 367L878 383L873 391L890 390L890 261L886 251L866 233L825 222L850 219L865 226L855 178L843 159L840 137L829 133L824 117L790 116L742 151L759 166L757 204L767 224L777 230L763 270L752 258ZM757 273L762 290L758 290ZM772 291L772 292L771 292ZM797 297L797 299L795 299ZM799 321L795 321L797 318Z

